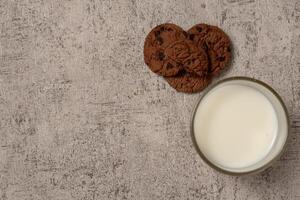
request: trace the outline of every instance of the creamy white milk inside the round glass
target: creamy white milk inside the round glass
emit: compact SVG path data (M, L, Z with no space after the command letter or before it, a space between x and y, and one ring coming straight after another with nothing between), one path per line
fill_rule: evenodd
M258 90L239 84L217 86L201 101L194 134L202 153L221 168L238 169L262 160L278 130L276 112Z

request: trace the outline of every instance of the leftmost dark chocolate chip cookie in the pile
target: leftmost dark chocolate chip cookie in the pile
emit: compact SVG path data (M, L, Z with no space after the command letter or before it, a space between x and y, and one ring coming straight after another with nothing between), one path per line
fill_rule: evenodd
M147 35L144 43L145 63L159 75L176 75L182 69L182 64L168 56L165 50L169 45L185 38L186 32L175 24L165 23L156 26Z

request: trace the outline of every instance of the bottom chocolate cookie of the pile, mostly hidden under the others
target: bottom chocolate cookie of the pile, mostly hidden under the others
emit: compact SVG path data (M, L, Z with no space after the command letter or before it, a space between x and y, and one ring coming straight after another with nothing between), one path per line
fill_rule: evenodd
M194 93L206 88L211 82L210 76L197 76L186 71L173 77L165 77L171 87L178 92Z

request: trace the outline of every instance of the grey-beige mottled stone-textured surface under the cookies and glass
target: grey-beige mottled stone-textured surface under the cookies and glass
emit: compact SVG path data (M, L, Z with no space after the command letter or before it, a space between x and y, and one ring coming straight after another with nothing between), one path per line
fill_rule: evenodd
M176 93L143 62L159 23L222 27L218 79L261 79L291 117L270 169L230 177L189 136L201 94ZM215 80L216 81L216 80ZM0 199L300 199L300 2L0 0Z

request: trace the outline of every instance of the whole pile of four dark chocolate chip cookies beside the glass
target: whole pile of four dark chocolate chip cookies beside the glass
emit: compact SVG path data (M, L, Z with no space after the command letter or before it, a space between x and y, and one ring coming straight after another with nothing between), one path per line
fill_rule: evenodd
M145 63L178 92L203 90L230 58L229 37L207 24L197 24L187 32L175 24L161 24L151 30L144 44Z

